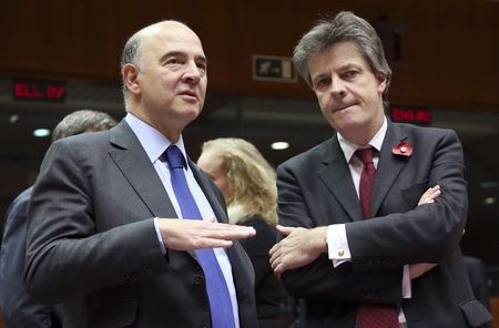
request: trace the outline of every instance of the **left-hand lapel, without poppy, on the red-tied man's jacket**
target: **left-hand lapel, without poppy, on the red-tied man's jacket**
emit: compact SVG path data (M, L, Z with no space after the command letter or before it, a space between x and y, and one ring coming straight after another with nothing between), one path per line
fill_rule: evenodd
M326 144L323 163L325 166L317 172L319 180L336 197L338 204L348 214L350 219L363 219L350 170L346 163L345 154L339 147L337 135Z

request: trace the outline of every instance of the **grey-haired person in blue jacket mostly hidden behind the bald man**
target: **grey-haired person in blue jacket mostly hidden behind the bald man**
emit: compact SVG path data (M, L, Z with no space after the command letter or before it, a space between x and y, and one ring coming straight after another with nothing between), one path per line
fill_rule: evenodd
M64 116L52 132L52 142L70 135L104 131L116 121L106 113L81 110ZM29 297L22 276L26 259L28 204L32 186L23 191L6 213L6 228L0 249L0 307L6 328L62 327L59 304L39 304Z

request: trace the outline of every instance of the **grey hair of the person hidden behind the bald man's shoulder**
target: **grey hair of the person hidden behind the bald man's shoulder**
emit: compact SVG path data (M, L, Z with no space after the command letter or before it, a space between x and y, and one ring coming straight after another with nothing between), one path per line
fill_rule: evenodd
M116 121L106 113L81 110L65 115L52 132L52 142L84 132L109 130L116 125Z

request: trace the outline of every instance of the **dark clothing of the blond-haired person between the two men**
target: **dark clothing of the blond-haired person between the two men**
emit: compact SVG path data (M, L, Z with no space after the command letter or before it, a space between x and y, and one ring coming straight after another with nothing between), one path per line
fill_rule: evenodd
M275 245L277 230L254 215L241 225L252 226L256 236L241 242L255 269L256 314L259 328L287 328L293 320L293 300L274 275L268 252Z

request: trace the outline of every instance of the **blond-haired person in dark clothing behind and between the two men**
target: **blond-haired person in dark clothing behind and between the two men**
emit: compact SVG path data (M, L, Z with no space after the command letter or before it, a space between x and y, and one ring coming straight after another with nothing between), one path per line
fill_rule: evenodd
M268 262L268 250L277 238L274 168L252 143L235 137L205 142L197 165L224 194L230 223L256 230L256 236L242 240L242 245L255 270L258 327L289 327L292 301Z

